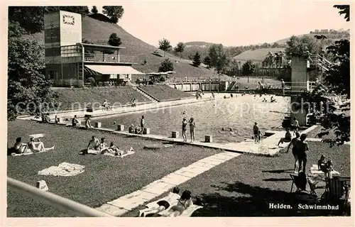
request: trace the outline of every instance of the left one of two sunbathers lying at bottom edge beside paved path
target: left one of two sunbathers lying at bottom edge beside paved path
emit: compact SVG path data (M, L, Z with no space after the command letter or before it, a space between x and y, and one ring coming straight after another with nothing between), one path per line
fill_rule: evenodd
M180 198L179 192L180 189L178 187L174 187L173 193L170 192L165 199L159 200L157 202L158 207L153 207L153 208L147 207L146 209L139 211L139 216L146 217L149 214L158 214L161 211L165 211L171 206L171 204L173 204L175 201L178 201L178 199Z

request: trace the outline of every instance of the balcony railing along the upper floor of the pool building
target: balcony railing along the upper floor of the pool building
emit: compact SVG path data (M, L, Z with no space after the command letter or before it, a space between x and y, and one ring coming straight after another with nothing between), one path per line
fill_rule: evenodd
M138 63L138 57L126 55L84 54L84 62Z

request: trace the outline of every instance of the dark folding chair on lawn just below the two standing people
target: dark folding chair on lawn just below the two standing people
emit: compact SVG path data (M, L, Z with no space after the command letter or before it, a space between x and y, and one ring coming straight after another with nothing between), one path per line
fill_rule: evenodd
M293 191L293 184L295 184L296 187L296 199L300 199L303 201L310 201L310 202L315 202L320 200L320 198L318 198L317 193L315 192L315 189L317 188L316 185L312 182L310 182L310 179L307 178L307 182L308 185L310 186L310 191L308 191L306 189L306 185L303 186L302 182L300 181L300 177L298 177L297 175L290 175L291 179L292 179L292 184L291 184L291 190L290 193Z

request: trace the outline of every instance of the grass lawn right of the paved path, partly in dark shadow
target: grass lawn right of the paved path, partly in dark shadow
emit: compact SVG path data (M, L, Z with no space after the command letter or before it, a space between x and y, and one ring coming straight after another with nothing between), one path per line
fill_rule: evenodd
M320 155L324 154L334 162L335 170L344 176L350 176L349 145L342 145L337 150L319 142L310 142L309 145L308 170L312 164L317 164ZM240 155L179 187L181 191L189 189L193 195L201 196L205 201L205 207L195 211L192 216L331 215L327 211L268 209L269 203L293 204L293 196L290 194L293 163L291 153L283 153L278 157ZM322 193L322 189L317 189L318 196ZM125 216L137 214L138 209ZM335 211L332 215L338 213Z

